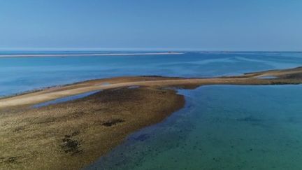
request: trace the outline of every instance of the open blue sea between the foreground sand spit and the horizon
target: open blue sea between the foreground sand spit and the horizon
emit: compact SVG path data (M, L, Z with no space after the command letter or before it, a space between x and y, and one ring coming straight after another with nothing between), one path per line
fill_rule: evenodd
M0 52L0 55L12 53L23 54ZM184 55L0 58L0 97L94 78L141 75L222 76L284 69L301 63L302 54L299 52L187 52Z

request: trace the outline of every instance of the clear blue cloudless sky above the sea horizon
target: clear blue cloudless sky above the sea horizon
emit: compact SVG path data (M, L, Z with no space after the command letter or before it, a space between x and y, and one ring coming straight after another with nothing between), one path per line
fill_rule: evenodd
M0 0L0 49L302 50L296 0Z

